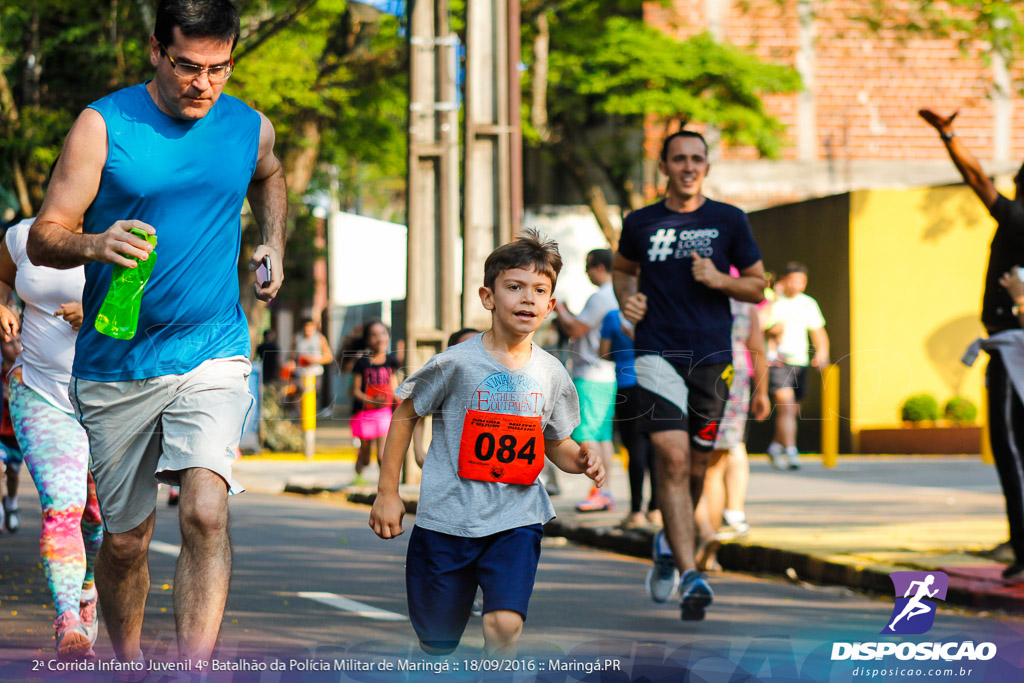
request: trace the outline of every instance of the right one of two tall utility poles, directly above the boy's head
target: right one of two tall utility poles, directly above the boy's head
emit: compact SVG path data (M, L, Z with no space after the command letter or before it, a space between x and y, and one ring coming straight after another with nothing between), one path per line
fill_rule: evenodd
M468 0L462 294L467 327L489 327L476 294L483 261L522 223L519 105L519 0Z

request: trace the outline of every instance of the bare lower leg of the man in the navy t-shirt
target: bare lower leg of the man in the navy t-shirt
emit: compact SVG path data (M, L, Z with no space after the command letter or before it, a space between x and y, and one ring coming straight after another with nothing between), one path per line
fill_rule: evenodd
M665 538L680 573L696 568L693 555L693 497L690 494L689 434L680 429L653 432L657 505Z

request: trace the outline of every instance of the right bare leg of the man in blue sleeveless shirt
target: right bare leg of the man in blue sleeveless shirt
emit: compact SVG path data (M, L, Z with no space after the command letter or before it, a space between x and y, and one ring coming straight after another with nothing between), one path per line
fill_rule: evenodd
M227 484L210 470L182 470L179 505L181 554L174 571L178 656L208 661L217 642L231 575Z

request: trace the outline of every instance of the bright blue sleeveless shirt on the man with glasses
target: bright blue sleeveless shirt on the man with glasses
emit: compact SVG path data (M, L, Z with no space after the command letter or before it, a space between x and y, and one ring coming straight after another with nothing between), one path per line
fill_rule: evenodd
M204 360L249 357L239 303L242 205L256 169L260 117L221 94L198 121L170 117L145 84L92 104L106 123L106 162L85 231L117 220L157 229L157 263L145 286L138 332L120 340L96 332L96 312L114 266L85 266L85 319L73 374L113 382L193 370Z

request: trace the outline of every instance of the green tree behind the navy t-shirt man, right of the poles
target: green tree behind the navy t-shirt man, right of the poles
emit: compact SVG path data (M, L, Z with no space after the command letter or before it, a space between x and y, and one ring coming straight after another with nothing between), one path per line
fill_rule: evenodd
M708 34L677 40L645 24L636 0L556 0L524 6L523 20L525 139L570 171L609 242L602 188L623 209L642 204L649 117L714 126L729 142L778 154L781 124L762 97L800 88L788 67Z

